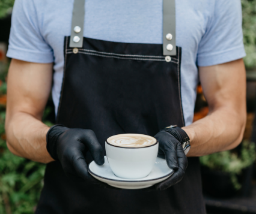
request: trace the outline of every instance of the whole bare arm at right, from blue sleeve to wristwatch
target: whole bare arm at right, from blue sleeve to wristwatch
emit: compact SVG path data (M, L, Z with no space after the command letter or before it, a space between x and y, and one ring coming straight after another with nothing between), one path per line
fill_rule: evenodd
M190 138L187 156L203 156L236 147L246 122L246 76L243 60L200 67L209 114L183 127Z

